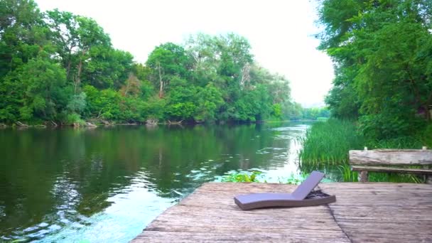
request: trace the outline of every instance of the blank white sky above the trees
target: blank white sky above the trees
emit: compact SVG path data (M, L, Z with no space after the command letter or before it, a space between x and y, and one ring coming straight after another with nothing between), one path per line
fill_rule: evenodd
M291 95L305 107L322 106L333 66L319 41L315 6L306 0L36 0L42 11L58 8L94 18L114 48L144 63L156 45L183 43L190 34L234 32L252 45L255 60L291 81Z

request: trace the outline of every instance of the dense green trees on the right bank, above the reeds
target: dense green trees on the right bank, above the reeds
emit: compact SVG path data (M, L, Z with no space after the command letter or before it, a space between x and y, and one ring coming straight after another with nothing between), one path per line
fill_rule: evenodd
M325 101L333 117L358 121L369 139L426 131L432 109L432 1L319 3L320 49L335 63Z

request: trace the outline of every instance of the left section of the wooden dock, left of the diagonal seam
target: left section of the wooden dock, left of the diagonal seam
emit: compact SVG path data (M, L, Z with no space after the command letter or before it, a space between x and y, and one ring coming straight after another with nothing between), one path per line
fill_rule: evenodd
M132 242L350 242L325 206L240 210L234 195L290 193L296 185L205 183Z

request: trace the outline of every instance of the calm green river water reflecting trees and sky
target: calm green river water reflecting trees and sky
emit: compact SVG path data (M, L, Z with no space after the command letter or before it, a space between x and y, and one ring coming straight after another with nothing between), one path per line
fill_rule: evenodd
M129 242L202 183L297 176L308 124L0 129L0 242Z

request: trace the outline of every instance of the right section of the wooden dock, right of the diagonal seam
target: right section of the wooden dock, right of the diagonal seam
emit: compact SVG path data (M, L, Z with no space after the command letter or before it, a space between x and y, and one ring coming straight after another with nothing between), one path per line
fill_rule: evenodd
M329 205L352 242L432 242L432 185L321 184L338 200Z

